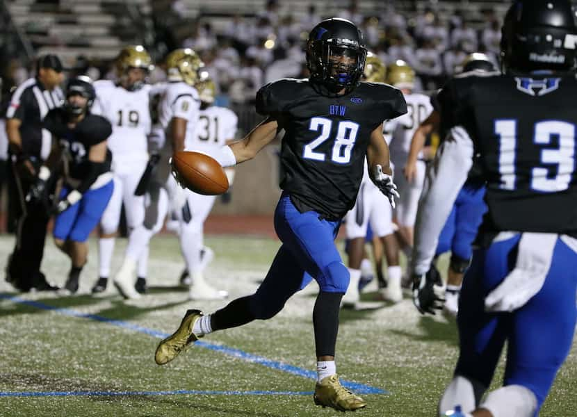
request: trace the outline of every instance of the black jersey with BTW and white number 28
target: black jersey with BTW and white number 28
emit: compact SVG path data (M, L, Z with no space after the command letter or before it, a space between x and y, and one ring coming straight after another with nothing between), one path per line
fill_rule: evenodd
M281 79L259 90L257 112L285 130L280 187L301 211L337 220L355 205L371 132L407 105L400 90L381 83L330 97L307 79Z

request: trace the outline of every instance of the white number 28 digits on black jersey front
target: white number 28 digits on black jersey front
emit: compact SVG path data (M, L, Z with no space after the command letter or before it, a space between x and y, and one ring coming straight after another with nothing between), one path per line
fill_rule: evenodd
M315 161L325 161L325 154L323 152L316 152L314 149L325 142L331 134L332 120L325 117L313 117L309 130L318 132L320 135L312 142L304 145L303 158L314 159ZM359 133L359 125L350 120L343 120L339 122L338 129L336 129L336 138L331 152L331 160L336 163L349 163L352 147L355 146L357 140L357 133Z

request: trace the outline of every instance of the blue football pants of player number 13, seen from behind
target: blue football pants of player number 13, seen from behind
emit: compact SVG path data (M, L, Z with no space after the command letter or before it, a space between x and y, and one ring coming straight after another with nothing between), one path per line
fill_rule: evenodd
M455 374L489 386L507 341L505 385L530 389L541 407L575 332L577 254L561 239L541 291L512 313L486 313L485 297L514 268L520 236L476 250L459 300Z

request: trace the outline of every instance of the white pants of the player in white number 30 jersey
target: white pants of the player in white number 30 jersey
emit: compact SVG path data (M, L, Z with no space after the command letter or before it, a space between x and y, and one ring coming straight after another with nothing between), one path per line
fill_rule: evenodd
M418 199L421 197L423 182L425 181L426 165L423 161L417 161L415 179L410 183L405 179L403 166L399 167L399 165L396 165L394 175L394 181L400 195L395 208L395 215L400 226L414 227Z

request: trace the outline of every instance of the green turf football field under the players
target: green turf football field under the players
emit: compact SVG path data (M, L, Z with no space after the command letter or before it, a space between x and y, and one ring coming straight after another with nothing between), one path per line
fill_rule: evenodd
M124 243L117 243L113 270ZM206 244L216 252L207 277L231 297L257 288L278 247L245 237L209 237ZM11 236L0 237L2 269L12 245ZM18 295L0 282L0 416L341 415L312 401L316 284L272 320L211 334L160 367L159 338L186 309L211 312L224 302L186 300L177 286L183 264L174 236L154 238L152 291L130 302L112 288L88 295L97 278L95 240L90 250L80 295ZM63 284L68 267L49 243L43 264L49 279ZM341 312L337 372L368 402L355 416L433 417L457 357L455 324L420 316L408 299L394 306L372 301L374 294L364 296L361 310ZM576 376L574 345L540 416L577 416Z

